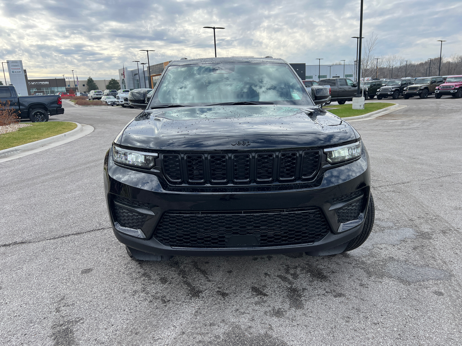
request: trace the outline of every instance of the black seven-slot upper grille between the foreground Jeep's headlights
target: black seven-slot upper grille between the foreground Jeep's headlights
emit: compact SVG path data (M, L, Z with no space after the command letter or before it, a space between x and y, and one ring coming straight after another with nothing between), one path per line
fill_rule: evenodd
M164 176L173 183L227 185L313 179L319 150L271 153L162 154Z

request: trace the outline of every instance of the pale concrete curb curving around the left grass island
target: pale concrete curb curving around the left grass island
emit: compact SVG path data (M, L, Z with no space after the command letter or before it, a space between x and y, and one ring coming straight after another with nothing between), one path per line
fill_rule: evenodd
M57 147L58 145L71 142L74 139L84 137L94 130L94 127L91 125L81 125L76 122L73 123L77 124L77 127L71 131L61 133L53 137L43 138L39 141L18 145L17 147L0 150L0 162L17 159L19 157Z

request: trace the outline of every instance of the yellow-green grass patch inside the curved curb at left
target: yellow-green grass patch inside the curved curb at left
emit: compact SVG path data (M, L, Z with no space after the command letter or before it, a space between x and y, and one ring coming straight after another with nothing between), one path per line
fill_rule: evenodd
M60 135L77 127L77 124L67 121L48 121L45 123L32 123L31 125L18 131L1 134L0 150Z

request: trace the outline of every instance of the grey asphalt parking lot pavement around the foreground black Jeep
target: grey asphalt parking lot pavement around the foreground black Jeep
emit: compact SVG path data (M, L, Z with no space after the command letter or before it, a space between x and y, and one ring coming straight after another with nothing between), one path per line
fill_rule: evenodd
M134 262L112 233L103 156L139 111L75 107L95 130L0 163L0 345L460 345L462 99L352 125L376 223L346 254ZM334 106L332 102L330 106Z

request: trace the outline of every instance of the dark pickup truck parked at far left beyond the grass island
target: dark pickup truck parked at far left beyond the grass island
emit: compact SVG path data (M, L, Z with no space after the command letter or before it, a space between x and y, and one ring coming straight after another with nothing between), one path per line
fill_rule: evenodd
M61 95L18 96L13 85L0 85L0 103L5 106L8 101L20 119L29 118L33 123L64 113Z

